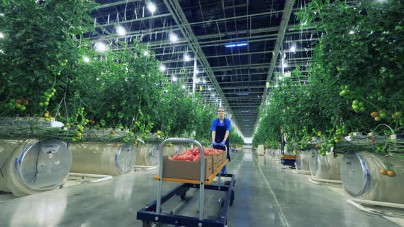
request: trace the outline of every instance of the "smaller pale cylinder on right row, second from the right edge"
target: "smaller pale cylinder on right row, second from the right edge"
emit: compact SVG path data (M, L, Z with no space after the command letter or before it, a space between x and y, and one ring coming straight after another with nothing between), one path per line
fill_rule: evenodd
M311 149L309 156L310 172L314 178L327 180L341 180L340 163L342 154L327 152L327 155L319 155L318 150Z

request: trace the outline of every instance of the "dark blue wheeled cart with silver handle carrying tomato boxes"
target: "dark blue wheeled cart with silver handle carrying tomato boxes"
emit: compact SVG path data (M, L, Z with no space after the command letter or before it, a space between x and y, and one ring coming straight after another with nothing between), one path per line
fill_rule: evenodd
M199 181L186 180L180 178L163 178L163 148L169 143L192 143L195 144L199 150L201 150L201 178ZM227 147L226 147L227 152ZM160 144L159 148L159 174L154 177L155 181L158 181L157 186L157 200L147 204L143 209L140 209L137 213L137 219L142 220L143 227L151 226L151 224L171 224L174 226L210 226L210 227L224 227L227 225L227 210L229 206L233 204L234 200L234 190L233 187L236 184L234 174L221 174L220 170L226 165L228 160L221 164L217 170L214 170L210 176L205 178L205 154L203 153L203 147L197 140L188 138L169 138L164 140ZM214 177L217 176L217 183L212 184ZM221 178L230 178L230 181L222 182ZM181 185L175 187L171 191L168 191L162 195L163 181L173 181L182 183ZM184 200L186 192L190 188L199 188L199 218L198 217L188 217L182 215L175 215L173 213L163 213L161 205L172 198L173 196L180 196ZM216 191L226 191L225 200L223 202L223 207L220 209L219 219L204 219L203 209L204 209L204 198L205 189L216 190Z

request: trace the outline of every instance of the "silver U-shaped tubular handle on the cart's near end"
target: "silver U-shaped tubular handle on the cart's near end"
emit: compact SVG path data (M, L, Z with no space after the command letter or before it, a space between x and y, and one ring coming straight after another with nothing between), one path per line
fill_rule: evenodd
M160 214L161 209L161 202L162 202L162 186L163 186L163 169L164 169L164 164L163 164L163 148L166 146L166 144L174 142L174 143L192 143L195 144L200 152L201 152L201 178L199 182L199 219L203 219L203 200L205 199L205 194L204 194L204 188L205 185L203 183L205 182L205 153L203 152L203 146L201 143L199 143L195 139L189 139L189 138L168 138L164 140L159 147L159 179L158 179L158 187L157 187L157 204L156 204L156 213Z

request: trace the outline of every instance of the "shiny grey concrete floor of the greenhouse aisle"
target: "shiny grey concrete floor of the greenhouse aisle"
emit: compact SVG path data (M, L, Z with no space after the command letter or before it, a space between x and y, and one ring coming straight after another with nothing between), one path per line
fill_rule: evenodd
M313 185L270 158L231 154L227 172L236 174L236 200L228 226L399 226L355 209L329 187ZM76 185L0 201L0 226L142 226L136 211L155 200L157 170L118 176L97 185ZM164 183L164 190L176 183ZM198 193L196 193L197 195ZM179 213L197 216L197 196L188 192ZM207 194L205 217L218 210L220 194ZM167 206L179 202L174 198ZM163 209L171 209L164 207Z

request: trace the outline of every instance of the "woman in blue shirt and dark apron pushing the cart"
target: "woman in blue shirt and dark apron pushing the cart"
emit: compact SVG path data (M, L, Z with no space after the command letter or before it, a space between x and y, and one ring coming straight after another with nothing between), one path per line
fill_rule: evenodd
M231 121L225 118L225 108L223 107L219 107L218 116L219 118L213 120L212 128L210 129L210 131L212 131L212 146L216 149L226 150L226 145L227 159L230 161L228 149L230 148L229 133L231 129ZM226 166L222 169L222 172L226 172Z

